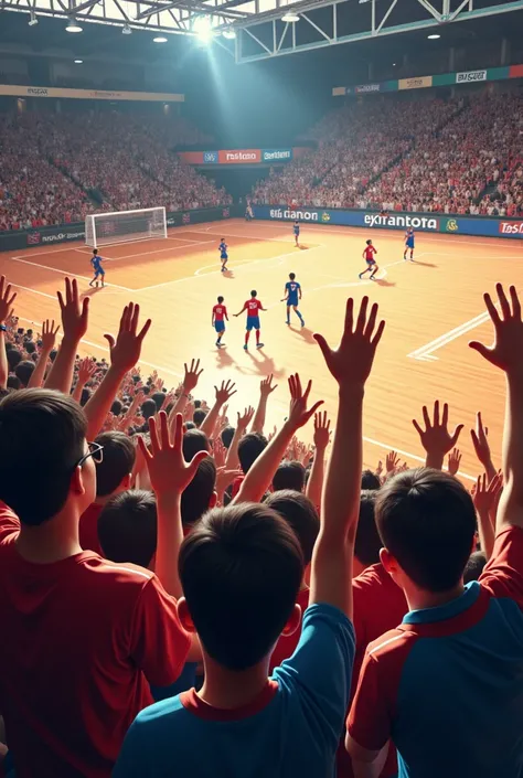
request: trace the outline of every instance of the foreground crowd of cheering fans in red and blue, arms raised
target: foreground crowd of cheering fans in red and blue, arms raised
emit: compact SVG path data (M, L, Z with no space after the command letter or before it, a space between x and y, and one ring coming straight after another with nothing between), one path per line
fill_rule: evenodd
M169 390L140 372L132 302L108 360L79 359L76 280L34 332L2 277L0 772L516 778L523 322L497 295L494 345L471 347L506 374L502 469L478 415L469 493L438 401L414 422L425 467L362 472L385 331L367 298L335 350L314 335L335 424L295 374L266 436L273 376L256 408L231 381L207 404L195 359Z

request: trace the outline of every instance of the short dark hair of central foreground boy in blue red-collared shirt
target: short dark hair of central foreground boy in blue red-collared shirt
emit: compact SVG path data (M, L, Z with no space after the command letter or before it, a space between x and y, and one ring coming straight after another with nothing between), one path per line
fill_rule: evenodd
M182 543L179 573L206 652L222 667L241 671L270 653L281 635L301 585L303 558L276 511L242 503L202 518Z

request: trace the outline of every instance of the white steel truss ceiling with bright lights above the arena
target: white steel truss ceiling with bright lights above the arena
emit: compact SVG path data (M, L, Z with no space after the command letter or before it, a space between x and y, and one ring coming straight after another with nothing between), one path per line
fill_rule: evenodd
M0 11L193 36L238 64L514 12L523 29L523 0L0 0Z

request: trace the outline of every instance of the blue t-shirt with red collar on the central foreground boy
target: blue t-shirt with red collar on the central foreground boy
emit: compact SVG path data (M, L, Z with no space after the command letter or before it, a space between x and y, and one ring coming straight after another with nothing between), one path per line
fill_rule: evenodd
M298 648L257 700L223 711L191 690L152 705L129 729L114 778L333 777L353 658L346 616L310 606Z

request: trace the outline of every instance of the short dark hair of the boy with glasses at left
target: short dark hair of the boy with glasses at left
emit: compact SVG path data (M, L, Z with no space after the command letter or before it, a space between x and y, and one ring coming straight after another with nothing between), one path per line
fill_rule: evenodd
M0 402L0 500L22 524L39 526L63 509L86 431L84 412L61 392L29 388Z

